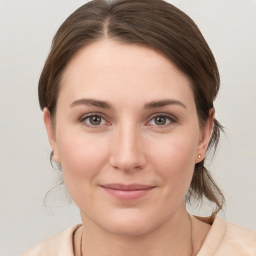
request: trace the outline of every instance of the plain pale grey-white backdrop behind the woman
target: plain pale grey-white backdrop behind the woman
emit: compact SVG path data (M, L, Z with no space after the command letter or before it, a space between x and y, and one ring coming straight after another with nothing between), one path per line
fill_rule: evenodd
M61 194L43 206L55 174L36 93L56 29L84 2L0 0L0 255L80 222ZM226 133L210 169L227 201L220 215L256 230L256 1L171 3L197 23L219 66L215 108Z

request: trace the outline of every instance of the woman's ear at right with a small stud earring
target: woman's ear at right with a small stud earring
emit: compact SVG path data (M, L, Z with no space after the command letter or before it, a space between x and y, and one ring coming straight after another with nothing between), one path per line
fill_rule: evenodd
M197 145L197 151L195 155L195 163L200 162L205 157L205 152L210 140L212 127L213 127L213 119L214 119L215 110L214 108L209 109L209 117L208 120L202 130L200 141Z

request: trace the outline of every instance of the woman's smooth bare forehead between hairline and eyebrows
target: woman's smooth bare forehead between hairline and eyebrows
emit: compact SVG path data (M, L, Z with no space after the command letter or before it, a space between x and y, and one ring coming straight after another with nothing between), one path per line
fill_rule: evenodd
M166 93L191 100L190 81L173 63L149 47L106 39L75 53L63 74L59 97L154 100Z

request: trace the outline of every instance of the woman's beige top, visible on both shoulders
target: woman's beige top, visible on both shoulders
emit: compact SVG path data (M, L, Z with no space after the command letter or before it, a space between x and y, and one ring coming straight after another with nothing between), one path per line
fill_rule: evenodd
M196 256L255 256L256 231L242 227L216 216L196 217L212 224L207 237ZM65 231L43 240L20 256L73 256L73 234L81 226L76 224Z

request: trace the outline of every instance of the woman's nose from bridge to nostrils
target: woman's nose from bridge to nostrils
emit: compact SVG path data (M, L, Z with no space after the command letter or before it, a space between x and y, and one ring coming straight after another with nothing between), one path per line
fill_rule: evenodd
M123 171L134 171L145 166L143 136L138 128L125 127L115 131L109 163Z

